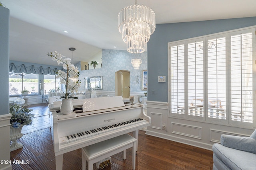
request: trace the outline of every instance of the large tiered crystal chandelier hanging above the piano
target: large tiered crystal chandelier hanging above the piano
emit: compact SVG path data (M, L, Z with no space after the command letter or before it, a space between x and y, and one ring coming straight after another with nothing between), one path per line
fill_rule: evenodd
M118 30L122 33L129 53L143 53L150 35L156 29L156 16L152 9L137 5L128 6L118 14Z

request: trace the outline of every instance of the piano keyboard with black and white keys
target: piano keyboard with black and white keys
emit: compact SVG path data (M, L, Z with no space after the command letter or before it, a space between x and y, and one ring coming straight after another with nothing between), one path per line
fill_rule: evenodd
M62 141L61 142L62 144L63 143L68 144L68 143L72 143L72 142L75 142L75 141L88 139L90 137L94 137L94 136L97 136L97 135L100 135L100 134L103 134L103 133L108 133L110 131L115 131L115 130L118 130L118 129L122 129L124 127L136 125L136 124L139 124L139 123L144 123L144 122L147 122L147 121L145 119L141 119L141 118L133 119L133 120L130 120L130 121L124 121L122 123L116 123L116 124L113 124L113 125L107 125L107 126L104 126L104 127L100 127L100 128L91 129L91 130L88 130L88 131L83 131L83 132L80 132L80 133L68 135L66 137L63 137L60 141Z

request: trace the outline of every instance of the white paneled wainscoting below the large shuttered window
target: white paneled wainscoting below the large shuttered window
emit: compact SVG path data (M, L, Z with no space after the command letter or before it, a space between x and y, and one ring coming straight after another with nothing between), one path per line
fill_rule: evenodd
M220 143L221 134L250 136L254 131L253 129L169 117L167 102L147 101L147 115L151 117L151 126L146 130L147 135L208 150L212 150L214 143ZM161 127L163 123L166 126L165 129Z

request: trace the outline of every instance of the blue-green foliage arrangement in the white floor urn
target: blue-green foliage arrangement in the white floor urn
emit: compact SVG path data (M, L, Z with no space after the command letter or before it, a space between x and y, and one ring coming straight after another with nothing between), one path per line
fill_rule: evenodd
M30 113L32 110L33 109L21 107L17 104L10 105L10 114L12 114L10 119L11 126L14 128L19 128L22 125L31 125L32 118L34 116Z

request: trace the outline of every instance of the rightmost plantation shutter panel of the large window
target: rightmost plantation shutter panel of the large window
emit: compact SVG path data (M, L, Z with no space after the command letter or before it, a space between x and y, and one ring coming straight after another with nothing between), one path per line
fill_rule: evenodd
M252 32L231 36L231 120L252 123ZM254 47L255 48L255 47Z

